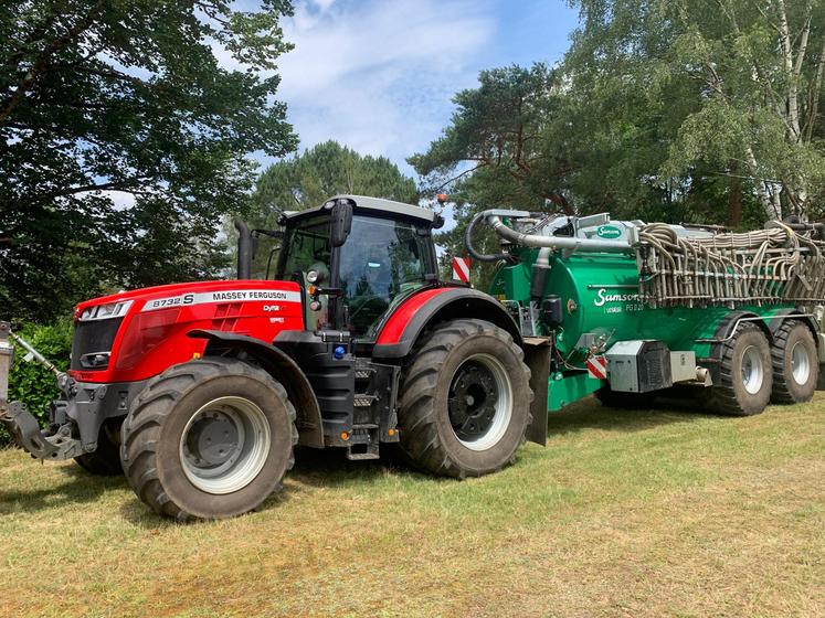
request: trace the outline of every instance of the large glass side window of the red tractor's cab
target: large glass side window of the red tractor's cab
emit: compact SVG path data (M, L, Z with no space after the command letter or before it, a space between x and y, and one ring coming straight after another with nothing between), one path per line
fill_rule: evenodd
M421 225L356 215L341 247L340 288L347 326L368 333L393 299L420 288L430 271L429 236Z

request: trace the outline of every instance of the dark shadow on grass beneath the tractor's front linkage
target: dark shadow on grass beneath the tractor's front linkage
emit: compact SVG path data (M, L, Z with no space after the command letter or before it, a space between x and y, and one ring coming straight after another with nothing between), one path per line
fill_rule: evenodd
M0 490L0 515L94 502L107 491L126 487L124 477L96 477L78 466L63 466L60 471L67 480L59 486L34 490ZM36 472L33 470L32 473Z

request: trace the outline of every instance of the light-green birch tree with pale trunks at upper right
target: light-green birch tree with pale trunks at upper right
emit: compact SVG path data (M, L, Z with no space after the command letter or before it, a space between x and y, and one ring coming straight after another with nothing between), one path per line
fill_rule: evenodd
M635 134L643 154L664 148L646 182L675 183L677 198L729 179L729 223L741 219L739 192L758 198L763 217L808 214L825 183L822 0L575 3L583 24L564 67L592 134ZM624 171L630 152L607 175L641 178Z

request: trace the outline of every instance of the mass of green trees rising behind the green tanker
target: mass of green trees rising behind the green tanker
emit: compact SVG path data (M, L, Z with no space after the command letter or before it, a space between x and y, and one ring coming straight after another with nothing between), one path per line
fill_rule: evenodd
M573 3L560 66L483 71L409 159L455 199L449 251L488 207L737 228L825 214L822 0Z

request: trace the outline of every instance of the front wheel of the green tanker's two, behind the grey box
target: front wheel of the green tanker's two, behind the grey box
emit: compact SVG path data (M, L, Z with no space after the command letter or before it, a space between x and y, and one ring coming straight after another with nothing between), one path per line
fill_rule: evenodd
M760 414L773 388L768 338L759 327L743 322L722 345L720 381L710 387L710 407L731 416Z

